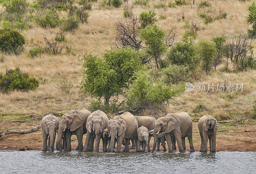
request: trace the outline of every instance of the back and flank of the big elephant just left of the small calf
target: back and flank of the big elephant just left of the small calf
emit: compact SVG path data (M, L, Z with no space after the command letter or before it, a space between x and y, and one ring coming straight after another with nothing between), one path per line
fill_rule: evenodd
M125 121L127 128L124 134L124 138L132 138L134 132L137 134L138 121L130 112L124 112L124 114L116 115L113 119L123 119Z

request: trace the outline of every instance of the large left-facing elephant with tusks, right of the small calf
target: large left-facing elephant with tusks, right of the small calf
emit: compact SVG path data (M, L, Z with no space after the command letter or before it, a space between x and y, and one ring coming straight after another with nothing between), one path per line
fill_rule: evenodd
M179 111L167 114L165 117L160 117L156 120L152 153L156 149L157 134L161 132L165 132L169 152L172 152L172 136L175 137L180 152L185 152L186 150L185 137L188 137L190 152L195 151L192 142L192 120L188 113Z

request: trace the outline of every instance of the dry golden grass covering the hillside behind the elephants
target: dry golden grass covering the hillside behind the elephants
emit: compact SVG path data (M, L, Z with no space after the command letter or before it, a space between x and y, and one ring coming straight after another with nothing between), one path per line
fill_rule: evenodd
M129 0L132 4L133 0ZM23 71L34 77L42 77L48 79L44 84L40 84L35 91L18 92L14 91L10 94L0 94L0 115L26 115L29 111L44 115L51 111L57 113L65 113L71 108L87 107L91 98L79 92L79 83L81 82L81 59L79 55L85 51L92 51L93 54L100 54L105 49L109 49L109 44L115 39L115 21L123 17L123 5L118 8L102 9L100 3L102 0L94 3L92 12L88 18L88 23L83 24L80 28L73 32L66 32L67 45L72 45L71 52L61 55L42 54L35 58L28 57L28 50L34 44L44 45L43 36L52 38L60 29L43 29L36 24L33 28L23 31L26 38L25 51L19 56L6 56L7 61L0 63L0 72L4 72L5 68L20 67ZM213 36L225 35L229 39L234 34L246 32L250 26L246 23L247 6L250 1L241 2L238 0L212 0L212 9L224 10L228 13L227 19L217 20L213 23L205 25L203 20L198 17L198 5L168 7L169 1L161 1L166 5L165 8L154 9L154 4L160 1L150 1L149 7L141 7L133 5L133 13L139 15L142 11L155 10L157 19L159 14L165 15L166 19L158 20L156 24L165 31L175 27L177 39L181 39L184 34L184 20L195 21L199 24L200 30L196 41L200 39L211 39ZM192 1L190 1L191 3ZM201 0L196 0L195 4L199 4ZM193 3L193 2L192 2ZM74 55L75 54L75 55ZM169 112L178 110L188 111L192 116L201 116L204 114L215 115L219 118L228 118L231 116L247 116L248 110L251 109L252 101L255 99L255 74L256 71L235 73L212 73L210 76L203 76L198 82L218 83L222 81L221 75L228 77L230 82L243 82L244 91L241 93L183 93L180 97L176 97L172 101L172 105L168 108ZM74 87L69 94L65 94L56 88L56 84L62 81L71 81ZM192 113L193 109L199 103L204 103L207 107L206 111L200 113ZM148 111L145 111L145 114Z

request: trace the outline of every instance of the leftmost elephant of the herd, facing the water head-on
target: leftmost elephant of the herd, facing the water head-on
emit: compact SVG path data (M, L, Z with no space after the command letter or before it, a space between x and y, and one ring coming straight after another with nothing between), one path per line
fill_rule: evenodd
M43 117L41 122L41 129L43 131L43 146L42 151L50 150L54 151L54 143L56 132L59 129L59 118L56 116L49 114ZM47 145L48 140L48 145Z

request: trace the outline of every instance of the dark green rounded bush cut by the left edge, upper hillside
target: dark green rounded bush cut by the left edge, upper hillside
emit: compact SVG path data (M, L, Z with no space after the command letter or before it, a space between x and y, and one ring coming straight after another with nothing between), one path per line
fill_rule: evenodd
M0 51L19 54L24 50L25 38L20 32L4 28L0 29Z

